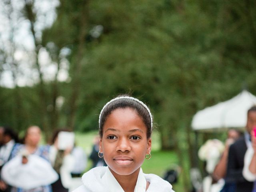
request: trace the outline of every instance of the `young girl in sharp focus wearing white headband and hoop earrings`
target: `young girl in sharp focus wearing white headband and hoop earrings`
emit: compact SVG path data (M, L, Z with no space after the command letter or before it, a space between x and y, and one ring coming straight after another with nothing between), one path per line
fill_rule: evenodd
M174 192L170 183L141 169L144 159L151 158L152 125L152 114L140 100L110 100L99 117L99 156L108 166L86 172L74 192Z

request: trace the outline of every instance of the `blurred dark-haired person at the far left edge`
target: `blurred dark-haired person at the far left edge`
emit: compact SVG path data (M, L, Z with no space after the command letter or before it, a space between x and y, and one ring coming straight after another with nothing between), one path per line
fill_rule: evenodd
M13 149L19 142L18 135L10 127L0 127L0 170L10 160ZM0 177L0 192L9 192L8 186Z

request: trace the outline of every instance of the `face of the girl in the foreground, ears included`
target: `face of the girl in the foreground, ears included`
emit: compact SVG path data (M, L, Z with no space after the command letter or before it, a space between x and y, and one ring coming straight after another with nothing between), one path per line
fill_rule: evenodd
M139 170L145 155L151 150L151 138L137 112L118 108L108 116L100 139L100 152L110 170L119 175L130 175Z

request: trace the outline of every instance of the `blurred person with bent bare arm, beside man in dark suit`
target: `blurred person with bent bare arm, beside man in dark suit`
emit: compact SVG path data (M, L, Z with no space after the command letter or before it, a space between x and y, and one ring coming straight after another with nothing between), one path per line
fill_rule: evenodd
M220 158L220 161L216 165L214 172L212 174L212 177L215 181L218 181L220 179L224 179L226 177L227 172L227 163L228 163L228 150L231 144L233 144L240 136L242 136L242 132L235 129L228 130L227 139L225 142L225 148L224 152ZM225 182L221 192L230 192L234 191L235 189L235 183L231 182Z

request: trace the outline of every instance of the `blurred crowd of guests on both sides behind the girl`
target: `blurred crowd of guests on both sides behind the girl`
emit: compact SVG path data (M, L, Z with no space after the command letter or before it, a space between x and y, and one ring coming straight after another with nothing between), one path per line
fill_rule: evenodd
M40 145L41 137L38 126L28 127L22 140L12 128L0 126L0 192L71 192L82 184L88 158L91 168L106 166L98 154L99 136L88 157L68 129L54 132L46 145ZM193 184L194 192L256 192L256 106L247 112L244 132L229 129L224 143L207 140L198 156L206 175ZM174 174L167 173L170 182Z

